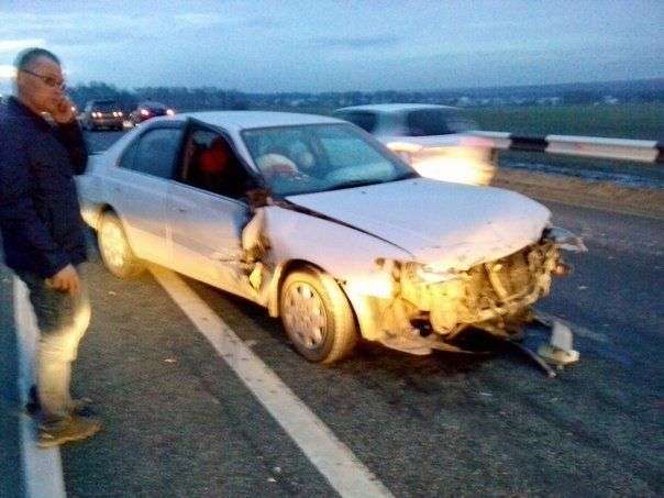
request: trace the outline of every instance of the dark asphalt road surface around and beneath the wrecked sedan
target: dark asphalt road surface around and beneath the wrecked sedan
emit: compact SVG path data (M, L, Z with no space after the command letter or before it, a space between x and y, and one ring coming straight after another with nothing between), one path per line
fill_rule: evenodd
M578 331L582 361L555 379L491 344L472 357L365 344L334 367L311 365L259 308L187 281L395 496L662 496L664 223L549 207L589 248L539 306ZM91 253L75 391L106 431L62 450L69 496L335 495L150 274L119 280ZM0 285L11 331L4 270ZM0 341L10 379L14 341ZM21 496L16 394L3 386L0 496Z

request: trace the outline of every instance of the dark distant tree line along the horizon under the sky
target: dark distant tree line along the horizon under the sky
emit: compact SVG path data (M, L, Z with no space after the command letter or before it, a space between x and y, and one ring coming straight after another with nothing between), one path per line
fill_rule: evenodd
M664 79L602 84L451 89L438 91L335 91L250 93L215 87L143 87L119 89L92 81L70 89L79 108L88 100L113 99L130 111L143 100L155 100L178 112L197 110L307 110L327 112L369 103L421 102L462 107L584 104L597 102L664 102Z

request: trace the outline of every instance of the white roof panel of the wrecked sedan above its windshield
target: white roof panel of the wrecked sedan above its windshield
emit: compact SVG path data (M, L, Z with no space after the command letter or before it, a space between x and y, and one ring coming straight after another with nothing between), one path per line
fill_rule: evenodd
M180 120L192 118L203 123L245 130L252 128L289 126L297 124L344 123L335 118L273 111L211 111L177 114Z

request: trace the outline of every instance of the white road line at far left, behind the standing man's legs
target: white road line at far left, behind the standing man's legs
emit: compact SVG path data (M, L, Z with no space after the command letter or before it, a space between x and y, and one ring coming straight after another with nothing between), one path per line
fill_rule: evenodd
M33 358L37 340L37 327L27 299L27 288L16 277L13 283L14 327L19 346L19 392L22 406L27 401L32 386ZM65 498L63 465L57 447L42 450L35 442L35 427L31 417L21 414L21 455L25 491L29 498Z

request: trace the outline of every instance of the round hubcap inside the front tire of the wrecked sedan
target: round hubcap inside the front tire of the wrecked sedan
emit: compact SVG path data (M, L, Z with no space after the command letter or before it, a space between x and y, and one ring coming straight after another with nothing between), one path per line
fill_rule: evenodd
M294 339L307 350L320 347L328 332L328 317L323 300L306 283L288 287L284 302L284 321Z

